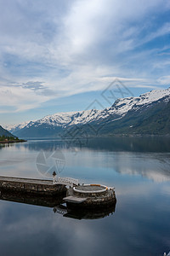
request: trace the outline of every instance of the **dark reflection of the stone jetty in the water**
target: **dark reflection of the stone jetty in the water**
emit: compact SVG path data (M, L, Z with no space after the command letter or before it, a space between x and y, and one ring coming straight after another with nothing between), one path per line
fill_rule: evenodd
M13 201L23 204L29 204L39 207L50 207L53 209L54 213L62 214L66 218L76 218L76 219L95 219L95 218L105 218L116 209L116 203L112 207L106 207L97 210L73 210L66 207L63 201L64 196L35 196L35 195L23 195L22 193L14 193L8 191L0 191L0 200L3 201Z

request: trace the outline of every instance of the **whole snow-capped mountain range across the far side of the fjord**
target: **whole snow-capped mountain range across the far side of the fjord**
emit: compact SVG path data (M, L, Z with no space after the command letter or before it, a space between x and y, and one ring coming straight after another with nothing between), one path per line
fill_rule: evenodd
M5 127L18 137L170 134L170 88L117 99L110 108L54 113Z

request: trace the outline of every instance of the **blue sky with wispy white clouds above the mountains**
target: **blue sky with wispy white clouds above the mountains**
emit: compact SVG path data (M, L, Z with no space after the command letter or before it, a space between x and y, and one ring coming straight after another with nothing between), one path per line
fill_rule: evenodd
M0 125L166 89L169 70L169 0L0 0Z

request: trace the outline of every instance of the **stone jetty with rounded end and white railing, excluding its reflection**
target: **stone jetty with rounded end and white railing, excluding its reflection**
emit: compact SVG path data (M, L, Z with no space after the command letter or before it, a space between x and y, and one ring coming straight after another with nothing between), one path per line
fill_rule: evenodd
M71 177L56 179L55 172L53 180L0 176L0 195L4 191L12 191L14 194L20 193L21 195L54 196L55 198L63 195L63 201L70 209L93 210L116 205L114 188L100 184L80 185L77 179Z

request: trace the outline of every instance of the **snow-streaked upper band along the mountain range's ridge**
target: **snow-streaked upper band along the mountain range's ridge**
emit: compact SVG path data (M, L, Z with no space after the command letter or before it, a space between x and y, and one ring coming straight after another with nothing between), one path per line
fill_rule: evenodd
M170 88L166 90L151 90L144 93L139 97L127 97L117 99L111 108L105 108L103 110L91 109L80 112L66 112L66 113L54 113L53 115L45 116L42 119L36 121L28 121L19 125L6 126L8 131L20 131L21 129L30 128L31 126L60 126L68 127L71 125L84 125L93 121L99 122L99 120L105 120L111 117L111 120L121 119L130 110L138 110L141 107L149 107L153 102L169 101L170 100Z

